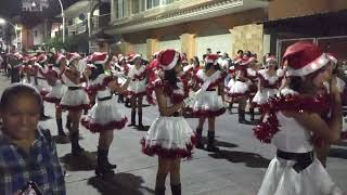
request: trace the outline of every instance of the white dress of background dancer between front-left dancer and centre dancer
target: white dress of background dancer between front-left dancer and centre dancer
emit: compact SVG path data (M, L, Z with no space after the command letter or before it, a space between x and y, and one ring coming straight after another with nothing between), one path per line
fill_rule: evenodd
M128 78L131 79L127 91L128 96L140 96L146 94L146 72L145 66L141 66L139 69L136 65L129 65Z

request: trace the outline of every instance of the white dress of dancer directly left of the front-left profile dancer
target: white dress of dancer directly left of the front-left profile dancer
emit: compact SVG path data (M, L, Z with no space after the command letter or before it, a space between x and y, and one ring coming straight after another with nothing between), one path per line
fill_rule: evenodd
M68 72L68 70L65 70ZM80 84L76 84L70 81L65 74L62 75L62 79L67 86L67 90L65 91L62 101L61 107L62 109L67 110L80 110L89 108L89 98L83 88Z

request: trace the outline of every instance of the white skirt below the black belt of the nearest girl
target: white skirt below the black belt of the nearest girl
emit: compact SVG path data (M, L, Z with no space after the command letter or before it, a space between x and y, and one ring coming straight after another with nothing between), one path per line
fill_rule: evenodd
M318 159L297 173L293 160L271 160L258 195L342 195Z

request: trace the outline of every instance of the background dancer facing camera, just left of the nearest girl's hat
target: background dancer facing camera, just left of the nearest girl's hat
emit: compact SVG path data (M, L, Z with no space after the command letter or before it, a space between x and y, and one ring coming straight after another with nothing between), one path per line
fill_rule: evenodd
M266 60L266 68L258 70L258 92L254 96L253 103L260 107L260 120L262 120L265 116L261 106L279 92L280 77L277 74L275 65L277 61L274 56L270 56Z

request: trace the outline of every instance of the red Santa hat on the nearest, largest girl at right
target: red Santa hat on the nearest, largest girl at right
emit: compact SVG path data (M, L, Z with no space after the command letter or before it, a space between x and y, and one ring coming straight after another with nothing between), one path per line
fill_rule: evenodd
M299 41L290 46L283 55L287 61L287 76L306 76L325 66L330 60L311 42Z

